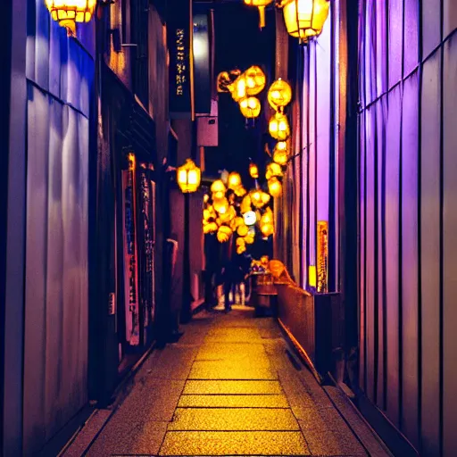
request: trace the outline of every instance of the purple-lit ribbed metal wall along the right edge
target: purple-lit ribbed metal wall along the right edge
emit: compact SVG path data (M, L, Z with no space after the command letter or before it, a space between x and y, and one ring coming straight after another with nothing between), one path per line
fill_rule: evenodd
M360 385L421 455L454 455L457 4L359 2Z

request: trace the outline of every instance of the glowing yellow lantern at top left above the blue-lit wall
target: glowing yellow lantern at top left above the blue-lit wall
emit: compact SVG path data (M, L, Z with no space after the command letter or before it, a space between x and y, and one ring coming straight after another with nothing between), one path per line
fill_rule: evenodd
M96 10L97 0L46 0L54 21L75 35L76 22L88 22Z

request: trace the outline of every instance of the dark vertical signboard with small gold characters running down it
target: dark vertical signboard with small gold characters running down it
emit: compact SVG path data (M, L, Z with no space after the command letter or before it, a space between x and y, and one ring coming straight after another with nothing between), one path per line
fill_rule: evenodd
M167 37L170 49L170 118L194 119L192 1L167 4Z

